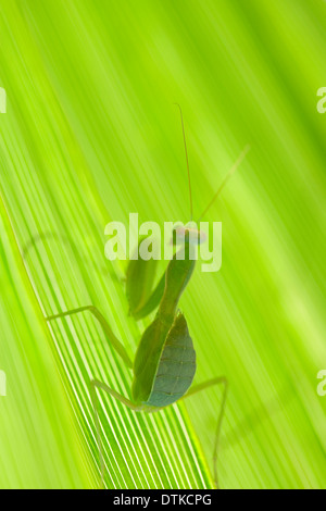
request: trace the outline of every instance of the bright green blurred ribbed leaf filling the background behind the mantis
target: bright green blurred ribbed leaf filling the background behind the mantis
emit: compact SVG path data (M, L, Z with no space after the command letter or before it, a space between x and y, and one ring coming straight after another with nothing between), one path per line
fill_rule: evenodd
M195 215L251 145L205 217L222 270L180 302L196 383L230 383L221 486L325 487L326 3L2 0L0 35L0 487L99 485L88 382L127 396L130 374L87 314L43 316L93 303L135 352L149 320L127 316L104 226L188 220L176 101ZM220 404L146 416L102 396L106 486L212 487Z

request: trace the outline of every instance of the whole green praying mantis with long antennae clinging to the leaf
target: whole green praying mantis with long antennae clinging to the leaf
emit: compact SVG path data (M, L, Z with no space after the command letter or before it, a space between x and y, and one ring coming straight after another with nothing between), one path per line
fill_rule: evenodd
M192 196L185 126L181 109L179 105L177 107L179 108L183 128L188 173L190 221L192 221ZM240 165L249 149L249 146L243 149L200 219L206 214L208 210L220 196L227 180ZM103 486L104 460L100 435L98 391L101 390L106 392L134 412L153 413L193 396L197 392L205 390L209 387L221 386L223 388L223 394L217 414L213 447L213 475L215 486L218 488L217 451L228 391L228 381L225 376L218 376L191 387L196 373L196 351L193 349L186 317L178 309L178 302L195 270L196 260L192 257L193 242L200 244L202 241L202 236L200 230L197 230L193 236L193 232L190 233L190 228L187 228L186 226L183 228L181 233L179 229L178 232L173 232L173 244L175 246L179 245L180 238L183 240L181 248L176 249L162 278L155 287L155 264L153 260L145 261L142 259L135 259L128 262L126 272L126 298L129 304L130 315L138 321L156 310L153 321L145 329L140 338L134 362L130 360L123 344L113 333L105 317L93 306L85 306L60 312L46 319L48 322L51 322L84 312L92 314L101 325L104 335L111 342L113 349L120 356L125 365L133 371L134 376L130 399L122 396L113 388L110 388L104 382L99 379L91 379L89 383ZM183 250L183 258L178 257L178 252L180 250Z

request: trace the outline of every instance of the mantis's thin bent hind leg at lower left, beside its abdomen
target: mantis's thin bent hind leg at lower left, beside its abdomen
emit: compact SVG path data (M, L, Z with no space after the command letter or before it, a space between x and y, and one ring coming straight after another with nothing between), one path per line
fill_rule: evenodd
M101 440L101 428L100 428L99 410L98 410L99 400L98 400L98 396L97 396L97 389L103 390L104 392L109 394L114 399L122 402L123 404L125 404L127 408L129 408L130 410L133 410L135 412L142 410L143 407L141 407L141 406L139 407L139 406L133 403L133 401L125 398L124 396L118 394L116 390L113 390L112 388L110 388L103 382L100 382L98 379L91 379L90 383L89 383L89 392L90 392L90 399L91 399L91 403L92 403L93 415L95 415L95 424L96 424L96 431L97 431L97 444L98 444L99 456L100 456L101 483L102 483L102 487L104 488L104 470L105 470L105 466L104 466L104 457L103 457L103 446L102 446L102 440Z

